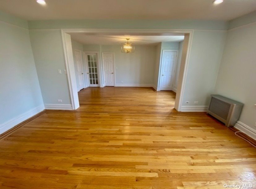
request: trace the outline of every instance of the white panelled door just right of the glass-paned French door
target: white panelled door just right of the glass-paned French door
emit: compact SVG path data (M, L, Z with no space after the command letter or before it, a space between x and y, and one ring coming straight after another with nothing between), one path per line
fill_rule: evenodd
M114 55L113 53L102 54L104 79L106 86L114 86Z

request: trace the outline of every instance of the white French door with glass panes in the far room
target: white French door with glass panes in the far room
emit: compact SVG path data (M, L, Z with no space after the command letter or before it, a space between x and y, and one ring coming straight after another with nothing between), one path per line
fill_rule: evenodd
M87 80L89 87L99 87L98 57L97 53L85 53Z

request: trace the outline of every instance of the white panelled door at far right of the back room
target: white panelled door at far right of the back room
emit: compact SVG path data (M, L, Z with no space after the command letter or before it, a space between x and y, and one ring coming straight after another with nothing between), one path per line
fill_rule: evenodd
M173 67L177 52L163 51L160 75L160 90L170 91L173 88Z

